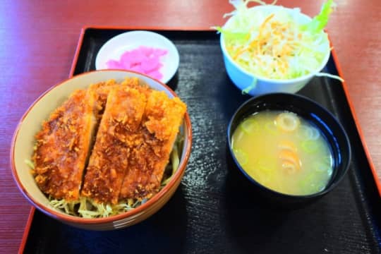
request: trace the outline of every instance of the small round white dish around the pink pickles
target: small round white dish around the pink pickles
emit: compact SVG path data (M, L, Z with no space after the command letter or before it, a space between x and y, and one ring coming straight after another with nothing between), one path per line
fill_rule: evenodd
M97 70L107 69L107 61L111 59L118 61L124 52L140 46L166 49L168 51L167 54L160 57L160 62L163 65L159 70L163 75L160 81L167 83L171 80L177 68L179 68L179 52L170 40L156 32L136 30L123 32L112 37L99 49L95 59L95 68Z

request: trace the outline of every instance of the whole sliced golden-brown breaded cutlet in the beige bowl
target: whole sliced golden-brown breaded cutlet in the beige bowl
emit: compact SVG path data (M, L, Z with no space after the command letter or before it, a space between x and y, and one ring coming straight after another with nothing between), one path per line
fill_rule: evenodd
M37 185L68 202L151 198L159 191L184 114L186 104L179 98L169 99L138 78L77 90L36 135Z

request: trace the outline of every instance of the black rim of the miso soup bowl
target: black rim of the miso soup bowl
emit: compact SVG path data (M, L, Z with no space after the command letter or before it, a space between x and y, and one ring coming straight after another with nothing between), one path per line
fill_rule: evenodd
M241 109L243 109L243 107L246 107L248 104L253 103L253 101L257 101L257 100L260 100L260 99L263 100L263 97L273 97L273 96L295 97L297 99L303 100L306 103L313 104L314 107L318 107L318 108L322 109L322 111L324 111L324 113L327 114L327 116L329 118L331 118L334 121L335 124L337 124L337 127L339 128L339 132L344 136L345 144L344 144L343 147L348 148L348 159L346 160L346 162L343 162L344 165L346 164L344 172L343 172L343 174L341 174L341 176L339 176L337 181L335 181L334 183L331 183L329 186L326 186L326 188L324 190L318 191L317 193L308 194L308 195L294 195L294 194L287 194L287 193L282 193L282 192L279 192L279 191L275 191L272 188L268 188L267 186L263 185L262 183L256 181L252 176L250 176L243 169L243 167L241 167L241 164L238 163L238 160L236 159L236 156L234 155L234 152L233 152L233 150L231 148L231 138L230 138L230 134L232 135L231 126L232 126L234 120L236 119L236 116L237 116L238 112L241 111ZM291 105L289 103L288 99L285 99L283 103ZM241 104L241 106L238 107L238 109L234 112L233 116L231 116L231 119L229 121L229 125L228 125L228 128L227 128L227 131L226 131L226 138L227 138L227 144L229 145L229 152L231 154L231 157L233 158L234 163L236 164L236 167L238 167L239 171L241 171L246 176L246 179L248 179L251 183L254 183L256 186L264 189L265 191L269 191L270 193L273 193L275 195L281 195L281 196L286 197L286 198L298 198L298 199L308 200L308 199L311 199L311 198L321 197L322 195L325 195L325 194L329 193L337 185L339 185L339 183L341 182L341 180L344 178L344 176L346 175L347 171L349 170L349 166L351 164L351 143L349 142L349 138L348 138L348 135L346 134L346 131L345 131L344 127L341 125L339 120L337 120L336 117L334 117L334 115L330 111L325 109L325 107L322 107L320 104L318 104L317 102L313 101L313 99L310 99L310 98L308 98L306 96L303 96L303 95L291 94L291 93L288 93L288 92L271 92L271 93L268 93L268 94L265 94L265 95L259 95L257 97L251 97L250 99L246 100L246 102L243 102L243 104Z

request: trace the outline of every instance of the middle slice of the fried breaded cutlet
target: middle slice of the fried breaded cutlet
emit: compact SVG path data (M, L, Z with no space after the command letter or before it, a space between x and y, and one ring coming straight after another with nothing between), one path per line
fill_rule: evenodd
M145 95L131 87L111 89L86 169L83 196L98 203L118 202L146 102Z

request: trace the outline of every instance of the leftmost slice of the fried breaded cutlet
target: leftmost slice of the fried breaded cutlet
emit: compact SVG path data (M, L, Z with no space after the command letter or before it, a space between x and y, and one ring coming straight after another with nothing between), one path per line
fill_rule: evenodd
M78 200L83 169L92 145L95 95L76 90L42 123L33 155L35 180L56 199Z

